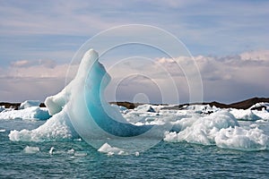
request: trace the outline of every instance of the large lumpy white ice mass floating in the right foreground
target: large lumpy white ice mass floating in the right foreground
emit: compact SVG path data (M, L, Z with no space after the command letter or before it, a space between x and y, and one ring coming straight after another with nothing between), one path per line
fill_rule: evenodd
M197 115L198 116L198 115ZM216 112L186 118L175 123L179 132L166 132L164 141L187 141L203 145L217 145L225 149L264 150L268 149L269 137L252 125L250 129L240 127L229 112ZM256 127L256 128L253 128Z

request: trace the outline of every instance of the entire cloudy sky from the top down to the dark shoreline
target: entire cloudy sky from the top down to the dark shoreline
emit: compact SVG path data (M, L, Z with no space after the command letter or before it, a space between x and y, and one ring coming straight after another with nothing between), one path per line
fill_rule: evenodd
M56 94L65 87L66 72L83 43L101 31L127 24L169 32L193 58L179 53L171 59L151 47L114 50L103 56L112 59L104 64L116 79L111 85L117 87L108 87L108 100L187 102L192 79L186 75L194 69L189 64L193 60L203 85L195 91L203 93L204 101L268 97L268 9L265 0L0 0L0 101L43 101ZM110 34L96 46L106 46L121 35L134 34ZM155 40L165 41L158 35ZM120 61L124 57L130 58Z

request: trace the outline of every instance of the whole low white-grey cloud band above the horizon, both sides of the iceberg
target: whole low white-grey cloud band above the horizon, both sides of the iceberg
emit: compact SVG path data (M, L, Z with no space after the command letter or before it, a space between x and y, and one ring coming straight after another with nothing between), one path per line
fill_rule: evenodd
M263 50L233 56L194 56L204 84L204 100L226 102L254 96L267 97L267 53ZM184 68L181 69L180 65ZM190 95L187 80L193 79L187 78L186 72L193 71L193 65L187 56L176 59L160 57L148 61L142 58L112 65L108 68L112 76L108 95L114 97L108 100L126 98L132 101L135 94L143 90L153 102L177 103L178 90L180 101L186 102ZM69 68L71 73L66 76ZM0 99L43 100L64 88L65 80L74 77L76 69L77 65L56 64L51 60L13 62L8 68L0 68L0 82L4 84L0 86ZM160 97L160 94L163 96ZM160 101L162 99L165 100Z

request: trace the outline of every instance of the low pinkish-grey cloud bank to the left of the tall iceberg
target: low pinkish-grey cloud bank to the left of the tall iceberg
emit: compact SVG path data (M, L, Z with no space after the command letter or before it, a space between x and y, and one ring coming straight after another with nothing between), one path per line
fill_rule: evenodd
M56 64L51 60L22 60L0 68L0 100L22 102L45 100L63 90L74 78L77 65Z

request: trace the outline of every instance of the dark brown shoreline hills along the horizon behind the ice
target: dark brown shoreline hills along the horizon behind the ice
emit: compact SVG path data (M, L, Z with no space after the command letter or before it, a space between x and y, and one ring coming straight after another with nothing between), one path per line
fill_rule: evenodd
M209 105L211 107L215 106L215 107L220 107L220 108L236 108L236 109L247 109L249 107L252 107L253 105L255 105L256 103L260 103L260 102L267 102L269 103L269 98L248 98L246 100L243 101L239 101L236 103L231 103L231 104L224 104L224 103L220 103L220 102L203 102L203 103L191 103L191 104L181 104L181 105L176 105L174 107L163 107L164 109L182 109L186 106L190 106L190 105ZM115 104L118 106L122 106L122 107L126 107L128 109L133 109L134 107L138 107L140 105L143 105L143 103L131 103L131 102L127 102L127 101L123 101L123 102L110 102L110 104ZM0 107L4 106L5 108L14 108L15 110L17 110L20 107L21 103L8 103L8 102L0 102ZM152 104L152 105L164 105L164 106L168 106L167 104ZM40 103L39 107L46 107L44 103ZM262 107L254 107L253 109L257 109L260 110Z

